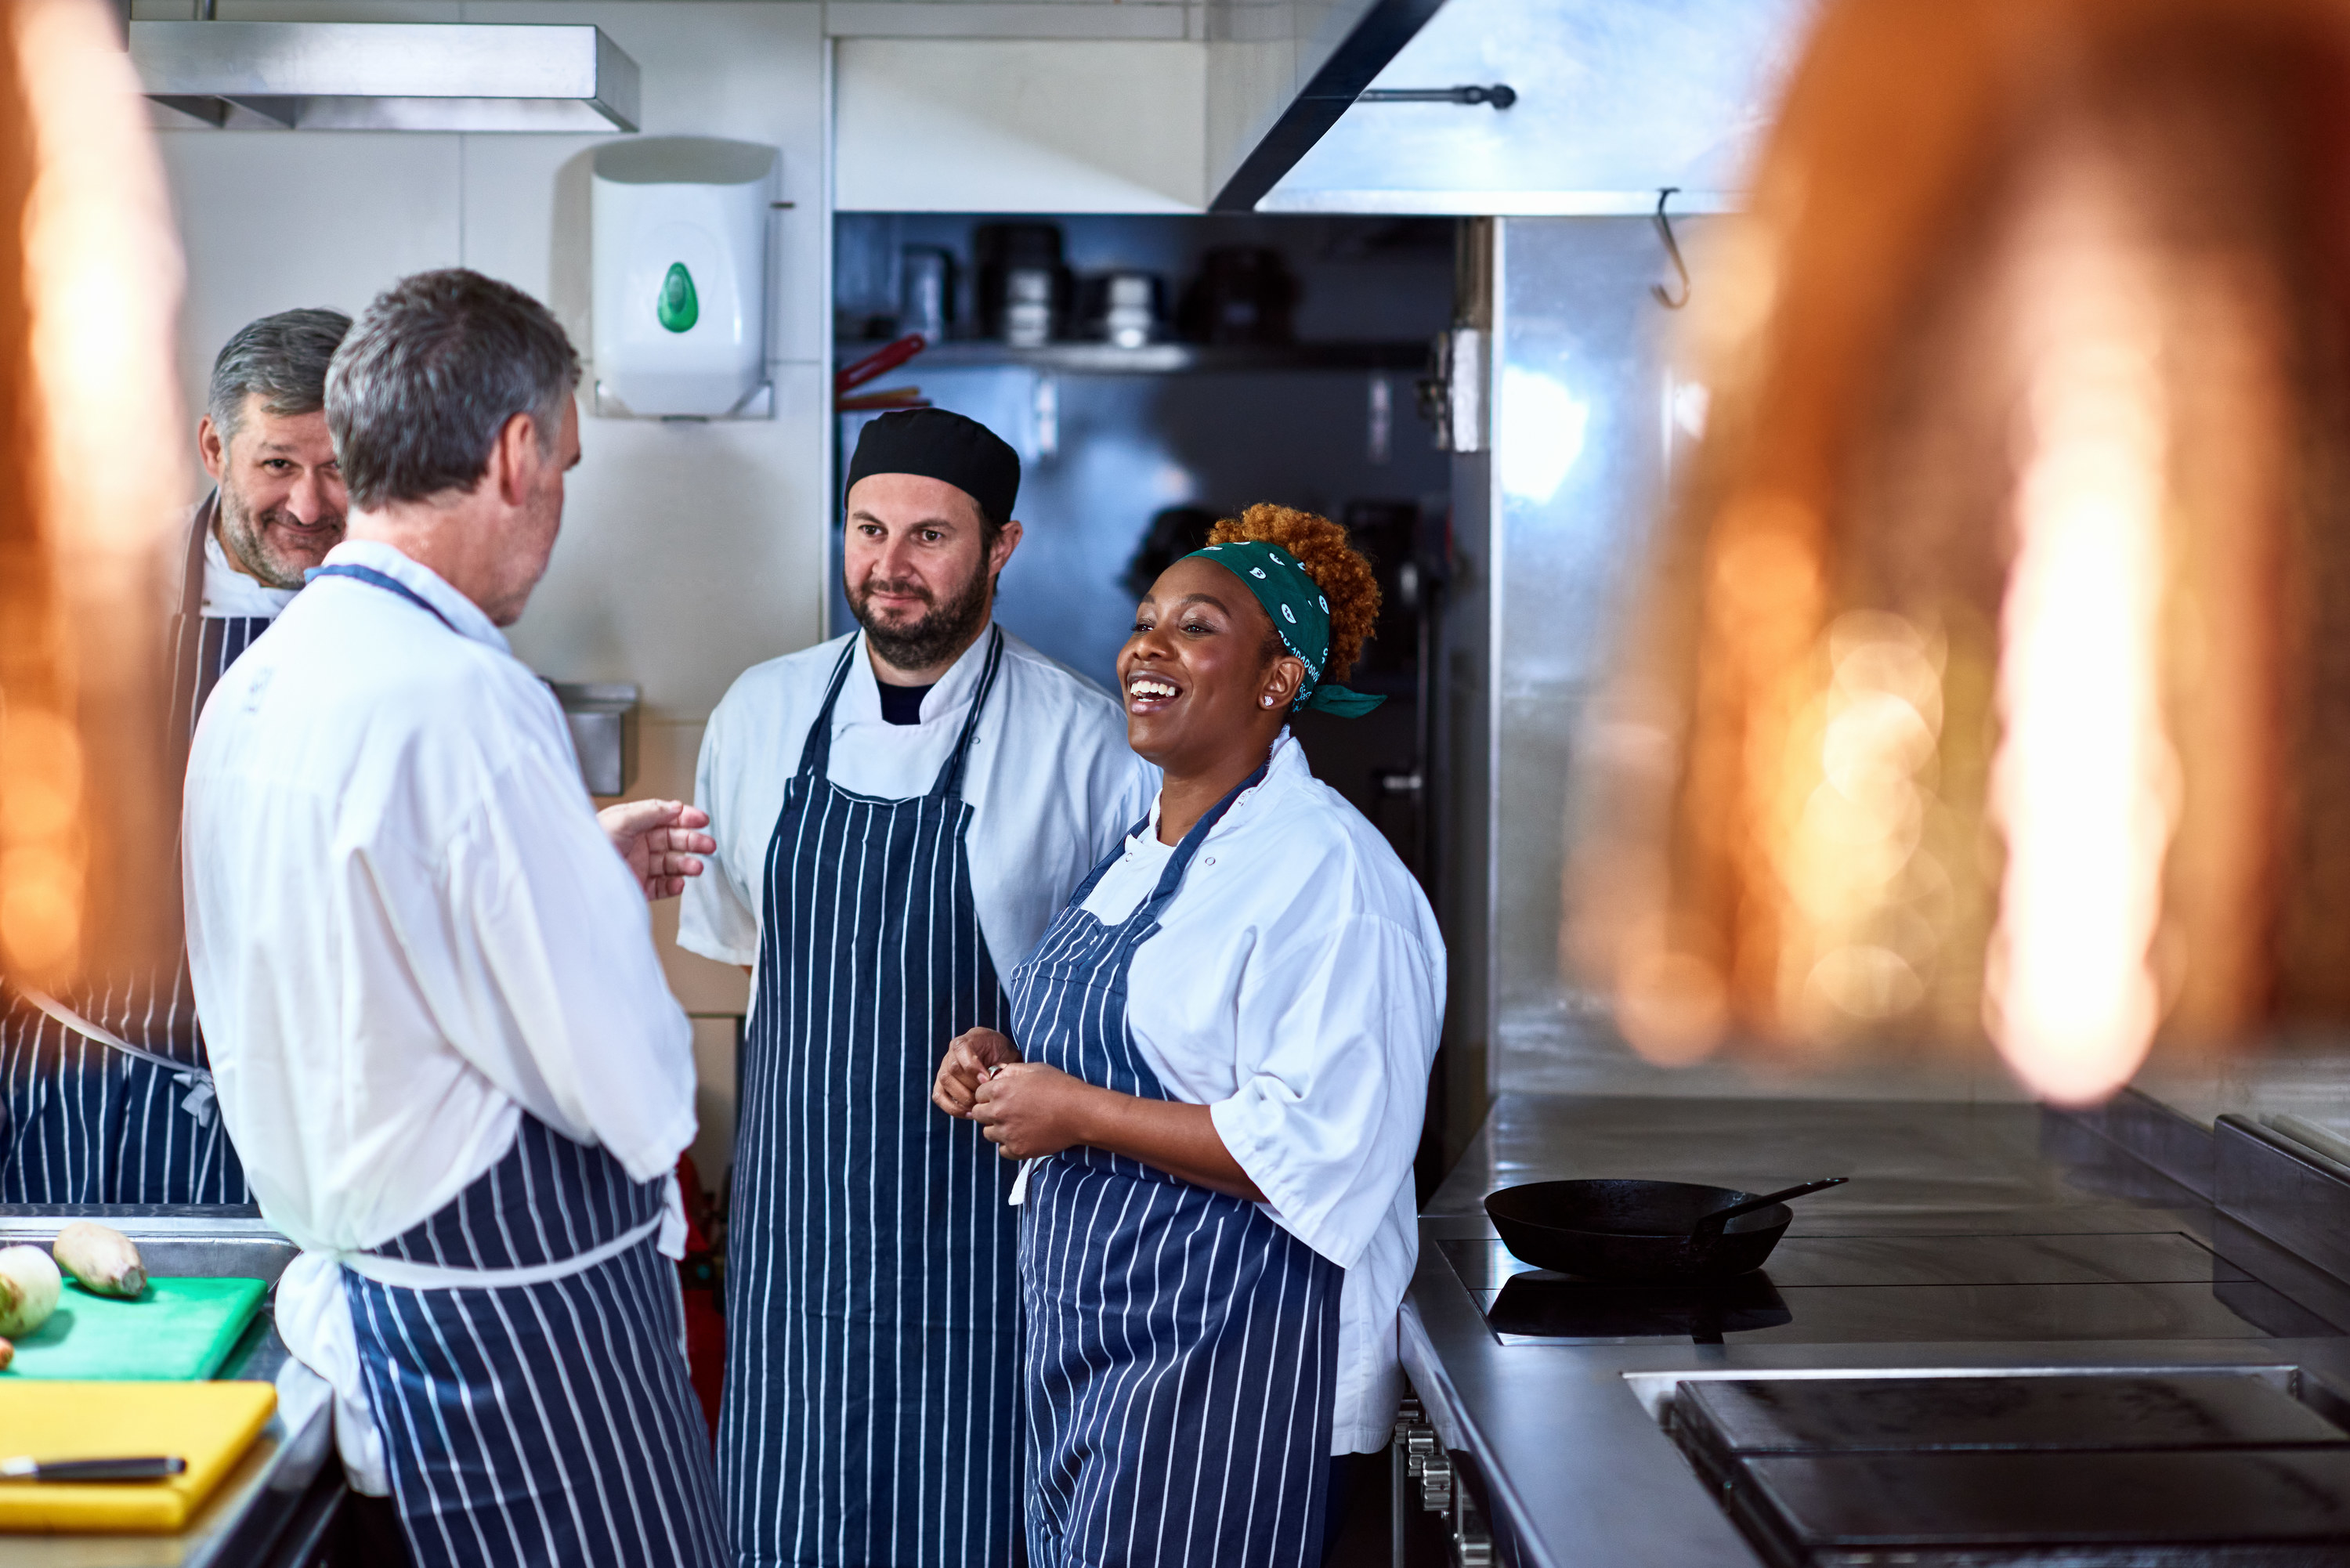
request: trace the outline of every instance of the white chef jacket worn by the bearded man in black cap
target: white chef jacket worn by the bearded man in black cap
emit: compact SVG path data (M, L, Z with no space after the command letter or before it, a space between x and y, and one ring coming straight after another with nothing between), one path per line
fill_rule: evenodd
M808 726L825 705L832 668L851 642L858 649L832 708L827 776L879 799L924 795L938 783L987 665L987 632L921 698L919 724L881 717L881 682L862 632L752 665L703 731L693 799L710 813L719 853L686 884L679 947L721 964L759 959L766 846ZM1156 790L1159 769L1126 745L1119 701L1006 632L996 689L964 764L971 900L999 983L1010 980L1013 964L1036 945L1086 872L1116 849Z

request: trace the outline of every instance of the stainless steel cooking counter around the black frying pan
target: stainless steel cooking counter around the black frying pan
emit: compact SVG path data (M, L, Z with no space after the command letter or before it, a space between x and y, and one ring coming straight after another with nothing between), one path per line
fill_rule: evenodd
M1767 1192L1852 1175L1849 1187L1798 1201L1788 1237L2171 1232L2284 1293L2303 1321L2350 1321L2338 1281L2103 1145L2066 1143L2061 1124L2026 1105L1504 1095L1422 1215L1419 1269L1403 1307L1405 1371L1443 1443L1469 1455L1502 1561L1758 1568L1762 1559L1657 1420L1687 1375L2237 1366L2301 1368L2350 1389L2350 1340L2268 1338L2254 1324L2237 1338L1802 1345L1793 1342L1807 1316L1798 1307L1795 1328L1767 1342L1737 1333L1725 1345L1504 1342L1443 1248L1448 1239L1492 1239L1480 1199L1516 1182L1636 1175ZM2193 1321L2216 1316L2204 1307Z

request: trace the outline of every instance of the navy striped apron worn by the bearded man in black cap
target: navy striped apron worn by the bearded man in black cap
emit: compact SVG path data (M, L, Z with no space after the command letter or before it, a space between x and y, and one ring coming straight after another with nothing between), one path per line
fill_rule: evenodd
M928 795L827 778L851 639L766 851L726 1258L719 1490L736 1563L985 1568L1018 1537L1013 1171L931 1107L954 1034L1008 1023L971 898L964 764Z

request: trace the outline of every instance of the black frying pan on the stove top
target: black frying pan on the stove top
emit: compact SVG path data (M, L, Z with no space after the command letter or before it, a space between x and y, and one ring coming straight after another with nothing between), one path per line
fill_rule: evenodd
M1786 1204L1690 1234L1720 1208L1753 1199L1694 1182L1528 1182L1485 1199L1502 1244L1525 1262L1584 1279L1732 1279L1762 1267L1793 1222Z

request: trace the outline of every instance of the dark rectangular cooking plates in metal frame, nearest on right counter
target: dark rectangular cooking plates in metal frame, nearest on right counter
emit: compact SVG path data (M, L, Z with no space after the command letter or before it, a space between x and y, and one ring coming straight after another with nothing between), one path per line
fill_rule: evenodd
M1704 1380L1671 1427L1779 1568L2350 1561L2350 1434L2258 1373Z

